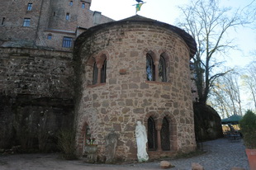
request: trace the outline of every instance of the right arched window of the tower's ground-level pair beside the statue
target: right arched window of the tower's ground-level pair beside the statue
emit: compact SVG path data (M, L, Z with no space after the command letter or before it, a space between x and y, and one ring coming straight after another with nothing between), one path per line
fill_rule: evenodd
M161 129L161 148L163 150L170 150L170 130L168 119L164 117Z

